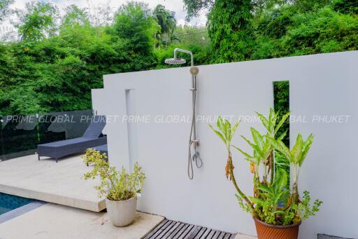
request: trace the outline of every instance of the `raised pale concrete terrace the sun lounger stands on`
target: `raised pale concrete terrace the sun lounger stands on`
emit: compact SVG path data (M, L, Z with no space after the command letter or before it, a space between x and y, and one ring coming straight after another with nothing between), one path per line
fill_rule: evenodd
M97 179L84 180L83 174L91 169L82 155L38 161L37 155L13 158L0 162L0 192L49 203L100 212L106 208L97 197L94 186Z

